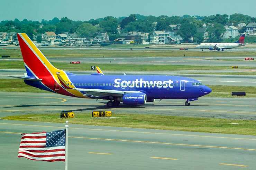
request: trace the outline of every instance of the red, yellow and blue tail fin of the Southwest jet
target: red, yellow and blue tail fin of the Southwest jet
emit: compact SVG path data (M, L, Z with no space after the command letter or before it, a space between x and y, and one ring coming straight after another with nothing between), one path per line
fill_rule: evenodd
M20 50L28 76L56 76L55 68L30 40L26 33L17 33Z

